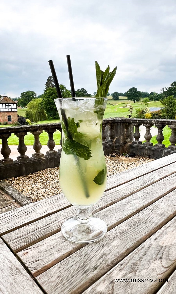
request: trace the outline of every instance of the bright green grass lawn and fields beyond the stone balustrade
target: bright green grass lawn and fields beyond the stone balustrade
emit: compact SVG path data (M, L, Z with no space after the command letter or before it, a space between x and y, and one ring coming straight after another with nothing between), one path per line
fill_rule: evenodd
M134 117L136 115L135 109L144 108L144 103L142 101L134 103L133 101L128 101L127 98L125 98L125 97L120 97L119 100L112 100L111 96L109 96L109 97L110 97L110 100L108 100L108 104L107 104L105 112L104 112L104 118L109 118L110 116L112 118L113 117L126 117L127 118L128 115L130 114L129 111L128 111L129 108L127 108L127 107L122 108L122 106L125 106L127 104L133 106L132 117ZM160 101L151 101L151 102L148 102L148 106L149 107L160 107L161 103L160 103ZM117 109L117 110L114 111L114 109ZM25 110L26 110L26 108L23 108L23 109L18 108L18 115L24 116ZM38 123L34 123L34 124L59 123L59 122L60 122L60 120L57 119L57 120L39 121ZM0 126L0 127L3 127L3 126ZM4 127L8 127L8 126L4 126ZM166 126L163 129L163 135L165 137L165 139L163 141L163 144L165 144L166 147L168 147L170 145L170 142L169 142L169 137L171 135L170 128L168 128ZM55 132L53 134L53 137L54 137L54 140L55 140L55 144L59 145L59 141L60 141L60 138L61 138L60 132L59 131ZM31 133L28 132L28 134L24 137L24 142L25 142L26 145L33 145L34 136ZM43 131L43 133L40 135L40 143L42 145L47 145L47 142L48 142L48 134L45 131ZM151 142L153 144L157 143L156 136L154 136L151 139ZM8 143L9 143L9 145L18 145L18 138L14 134L11 134L11 137L9 137L9 139L8 139Z

